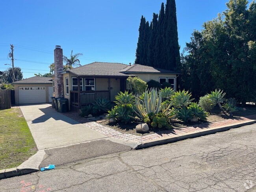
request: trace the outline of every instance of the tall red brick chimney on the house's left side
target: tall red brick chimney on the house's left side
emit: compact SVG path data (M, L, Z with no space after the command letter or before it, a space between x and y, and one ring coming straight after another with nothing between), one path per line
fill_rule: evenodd
M55 97L64 97L63 75L63 50L56 45L54 49L54 74L55 74Z

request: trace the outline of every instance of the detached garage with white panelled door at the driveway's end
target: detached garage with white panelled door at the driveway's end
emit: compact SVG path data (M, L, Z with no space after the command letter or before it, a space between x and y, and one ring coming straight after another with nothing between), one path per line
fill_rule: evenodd
M52 78L35 76L13 83L16 104L51 102L53 87Z

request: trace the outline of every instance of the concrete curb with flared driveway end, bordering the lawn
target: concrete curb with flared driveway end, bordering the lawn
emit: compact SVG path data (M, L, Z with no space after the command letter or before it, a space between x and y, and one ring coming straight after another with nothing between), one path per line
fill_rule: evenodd
M39 165L44 159L45 150L39 150L35 155L31 156L27 161L15 168L0 170L0 179L15 177L19 175L31 174L39 171Z

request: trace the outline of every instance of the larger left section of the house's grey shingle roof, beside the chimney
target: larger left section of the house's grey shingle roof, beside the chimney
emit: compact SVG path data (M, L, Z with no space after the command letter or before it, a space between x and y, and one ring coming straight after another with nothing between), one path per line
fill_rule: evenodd
M128 65L122 63L102 63L94 62L83 65L77 68L72 68L68 71L80 76L131 76L123 74L120 71L124 70Z

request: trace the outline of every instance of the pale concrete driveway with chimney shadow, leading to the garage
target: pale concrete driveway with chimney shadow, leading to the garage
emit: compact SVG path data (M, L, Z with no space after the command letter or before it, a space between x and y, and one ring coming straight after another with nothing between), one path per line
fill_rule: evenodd
M51 106L20 106L38 150L106 138L106 135L56 112Z

